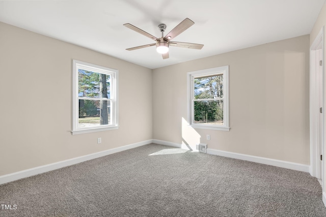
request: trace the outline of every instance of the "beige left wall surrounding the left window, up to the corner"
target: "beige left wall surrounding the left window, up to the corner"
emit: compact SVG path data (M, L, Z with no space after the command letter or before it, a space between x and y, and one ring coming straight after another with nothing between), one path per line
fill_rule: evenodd
M119 70L118 130L71 135L72 59ZM0 73L0 176L152 139L150 69L0 22Z

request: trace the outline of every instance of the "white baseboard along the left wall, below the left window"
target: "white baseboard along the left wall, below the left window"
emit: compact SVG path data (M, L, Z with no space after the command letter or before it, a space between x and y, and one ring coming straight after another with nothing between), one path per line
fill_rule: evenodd
M65 160L65 161L59 161L56 163L52 163L52 164L47 164L47 165L43 165L40 167L35 167L35 168L31 168L31 169L27 169L27 170L22 170L19 172L15 172L15 173L10 173L7 175L3 175L0 176L0 184L4 184L10 181L15 181L21 178L26 178L29 176L33 176L33 175L37 175L40 173L44 173L44 172L48 172L51 170L56 170L56 169L60 169L63 167L67 167L73 164L78 164L84 161L89 161L92 159L96 159L96 158L100 158L103 156L106 156L108 154L113 154L119 151L124 151L130 148L135 148L135 147L139 147L139 146L143 146L143 145L147 145L152 143L152 140L146 140L146 141L142 141L142 142L137 142L137 143L133 143L130 145L125 145L122 147L117 147L117 148L112 148L112 149L108 149L105 151L100 151L100 152L96 152L96 153L92 153L92 154L87 154L85 156L81 156L81 157L77 157L77 158L72 158L69 160Z

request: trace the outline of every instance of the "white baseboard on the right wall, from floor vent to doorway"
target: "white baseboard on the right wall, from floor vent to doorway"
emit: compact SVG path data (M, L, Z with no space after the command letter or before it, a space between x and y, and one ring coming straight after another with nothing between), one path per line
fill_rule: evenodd
M266 164L266 165L271 165L271 166L276 166L276 167L287 168L287 169L291 169L291 170L298 170L298 171L307 172L307 173L309 173L309 170L310 170L310 166L306 165L306 164L297 164L297 163L292 163L292 162L288 162L288 161L280 161L280 160L275 160L275 159L270 159L270 158L262 158L262 157L247 155L247 154L234 153L234 152L216 150L216 149L211 149L211 148L207 148L207 153L215 154L215 155L223 156L223 157L228 157L228 158L244 160L244 161L251 161L251 162L260 163L260 164Z

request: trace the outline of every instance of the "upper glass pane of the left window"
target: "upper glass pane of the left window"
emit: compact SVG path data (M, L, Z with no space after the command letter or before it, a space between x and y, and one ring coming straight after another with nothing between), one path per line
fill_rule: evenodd
M110 99L110 75L78 69L78 97Z

